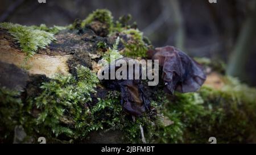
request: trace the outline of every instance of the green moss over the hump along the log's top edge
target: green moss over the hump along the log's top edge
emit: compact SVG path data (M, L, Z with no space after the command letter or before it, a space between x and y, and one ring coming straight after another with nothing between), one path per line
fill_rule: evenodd
M127 37L129 38L127 41L120 37L122 44L125 45L125 50L123 51L124 56L131 58L146 57L148 43L150 43L150 41L148 41L146 37L143 37L143 33L141 31L139 31L137 28L133 28L135 27L133 26L134 24L129 24L130 20L131 15L126 15L121 16L119 20L113 22L113 16L109 10L98 9L92 14L89 14L89 16L85 20L82 20L81 27L83 28L86 25L92 23L93 21L105 23L108 27L108 34L110 36L113 36L116 32L119 32L122 35L127 35ZM102 46L103 44L97 44L97 47Z

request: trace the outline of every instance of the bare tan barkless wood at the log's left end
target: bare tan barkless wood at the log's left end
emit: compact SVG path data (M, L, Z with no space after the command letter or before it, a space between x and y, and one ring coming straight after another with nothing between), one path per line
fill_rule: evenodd
M46 74L51 77L56 73L68 74L67 60L70 55L49 56L36 54L25 62L26 54L19 49L13 38L7 33L0 33L0 61L21 67L22 64L31 74Z

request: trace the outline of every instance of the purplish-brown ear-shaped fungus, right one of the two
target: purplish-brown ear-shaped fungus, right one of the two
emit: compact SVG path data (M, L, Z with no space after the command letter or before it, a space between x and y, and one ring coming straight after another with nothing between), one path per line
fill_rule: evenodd
M159 60L162 78L168 93L196 91L203 85L206 75L200 64L179 49L166 46L148 52L152 60Z

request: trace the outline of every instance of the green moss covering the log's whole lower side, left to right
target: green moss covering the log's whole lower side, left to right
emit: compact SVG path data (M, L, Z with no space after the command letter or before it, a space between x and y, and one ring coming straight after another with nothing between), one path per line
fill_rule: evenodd
M1 137L10 140L15 125L28 135L47 137L49 142L76 143L92 131L122 131L127 143L142 143L142 125L147 143L247 143L255 138L255 89L237 79L225 77L225 87L203 86L196 93L175 93L151 101L150 112L135 118L120 104L120 93L108 91L105 98L92 102L98 79L80 66L77 77L58 75L43 83L36 97L20 99L20 93L1 89ZM91 105L93 103L93 105ZM173 123L163 124L164 117ZM3 130L2 130L3 131Z

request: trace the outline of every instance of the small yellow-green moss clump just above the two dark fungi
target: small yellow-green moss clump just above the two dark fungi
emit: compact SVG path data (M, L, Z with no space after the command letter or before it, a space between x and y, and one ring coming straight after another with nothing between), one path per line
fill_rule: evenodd
M146 57L148 47L143 41L143 33L141 31L130 28L121 33L124 33L129 38L127 41L122 39L122 43L125 45L124 56L131 58Z

